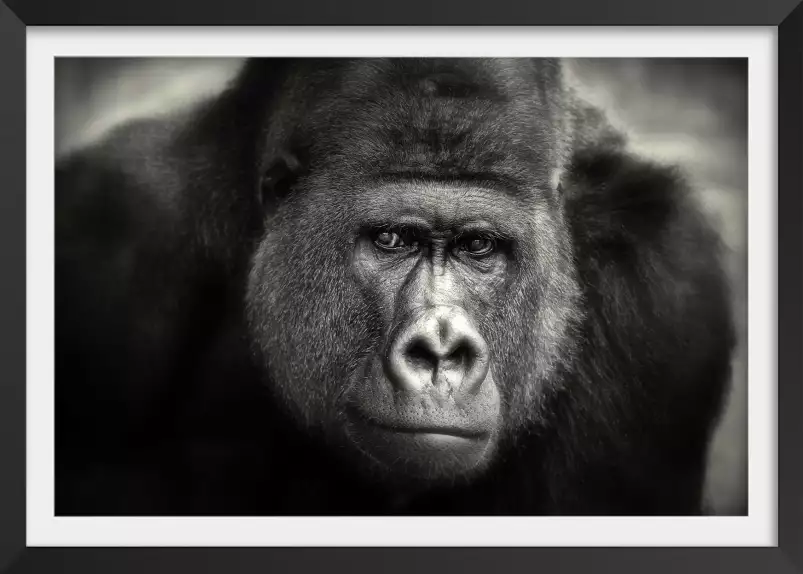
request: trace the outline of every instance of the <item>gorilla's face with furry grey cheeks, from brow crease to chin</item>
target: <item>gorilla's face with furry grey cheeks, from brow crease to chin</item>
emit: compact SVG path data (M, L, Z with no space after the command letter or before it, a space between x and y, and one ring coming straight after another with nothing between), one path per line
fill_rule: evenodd
M537 418L577 310L550 201L478 180L322 176L267 229L250 324L308 431L375 471L439 481L478 473Z

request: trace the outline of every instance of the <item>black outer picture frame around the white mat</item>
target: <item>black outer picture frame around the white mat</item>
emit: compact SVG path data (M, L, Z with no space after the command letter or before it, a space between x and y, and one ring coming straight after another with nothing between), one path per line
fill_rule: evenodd
M803 572L803 4L800 0L4 0L0 3L0 570ZM777 548L26 548L26 26L777 26ZM42 166L47 169L47 166ZM47 190L31 190L44 193ZM752 189L751 193L761 190ZM28 350L30 351L30 349ZM762 384L762 381L751 381Z

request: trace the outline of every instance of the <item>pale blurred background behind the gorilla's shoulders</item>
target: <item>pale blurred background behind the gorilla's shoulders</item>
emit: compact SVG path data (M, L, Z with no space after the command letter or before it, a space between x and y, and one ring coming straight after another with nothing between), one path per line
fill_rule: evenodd
M169 114L214 96L239 59L58 58L56 154L134 117ZM707 496L717 514L747 513L747 61L566 61L569 82L605 109L645 156L678 163L728 247L739 348L727 408L710 452Z

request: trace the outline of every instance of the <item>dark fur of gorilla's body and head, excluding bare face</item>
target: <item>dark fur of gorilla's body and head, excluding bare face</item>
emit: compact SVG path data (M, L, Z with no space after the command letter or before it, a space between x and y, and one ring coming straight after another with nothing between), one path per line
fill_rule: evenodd
M124 126L60 165L57 513L700 512L733 346L718 238L675 171L588 129L599 117L566 109L559 86L549 61L257 62L188 116ZM416 111L433 96L446 103ZM529 279L483 323L505 448L487 477L415 496L338 456L337 389L276 400L293 377L336 385L381 337L337 254L292 230L335 236L359 201L348 178L410 165L487 167L543 189L552 213ZM546 186L556 165L562 195ZM553 348L529 321L556 309Z

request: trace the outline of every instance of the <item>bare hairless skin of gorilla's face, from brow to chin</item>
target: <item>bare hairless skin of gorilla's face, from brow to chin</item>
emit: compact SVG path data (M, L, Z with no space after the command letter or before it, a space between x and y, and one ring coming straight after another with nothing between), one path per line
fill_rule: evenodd
M382 186L354 241L353 274L383 328L349 397L351 435L413 474L482 467L497 440L487 325L510 242L491 200L470 187Z

